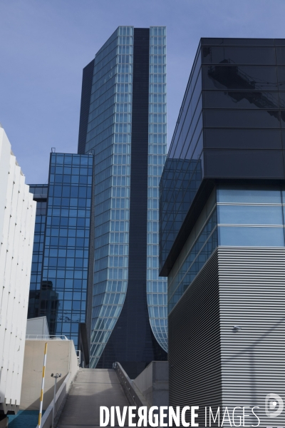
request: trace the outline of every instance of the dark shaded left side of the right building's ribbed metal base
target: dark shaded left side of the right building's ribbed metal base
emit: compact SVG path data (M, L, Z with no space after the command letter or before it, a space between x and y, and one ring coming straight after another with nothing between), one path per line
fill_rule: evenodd
M217 250L169 315L170 406L222 405ZM190 422L190 412L186 414ZM214 425L212 425L214 426Z

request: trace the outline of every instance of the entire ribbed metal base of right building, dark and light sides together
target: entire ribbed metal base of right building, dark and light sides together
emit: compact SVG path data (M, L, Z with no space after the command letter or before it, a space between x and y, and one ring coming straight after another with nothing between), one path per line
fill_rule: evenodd
M170 405L198 405L202 426L204 406L258 406L260 427L285 426L264 412L267 394L285 401L284 309L285 248L217 248L170 312Z

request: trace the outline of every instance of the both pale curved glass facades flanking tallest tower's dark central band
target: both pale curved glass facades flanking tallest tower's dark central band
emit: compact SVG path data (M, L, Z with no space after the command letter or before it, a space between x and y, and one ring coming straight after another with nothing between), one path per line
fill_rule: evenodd
M165 31L165 27L150 29L145 287L152 332L161 347L167 350L167 281L158 277L158 186L167 150ZM133 54L134 29L120 26L94 60L85 146L86 153L92 151L95 156L90 367L96 367L103 355L128 288Z

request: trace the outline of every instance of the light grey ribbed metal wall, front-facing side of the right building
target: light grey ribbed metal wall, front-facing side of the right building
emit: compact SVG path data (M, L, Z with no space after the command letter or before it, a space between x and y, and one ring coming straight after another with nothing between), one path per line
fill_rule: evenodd
M259 406L261 427L284 425L284 412L265 417L264 402L272 392L285 400L285 248L218 254L223 405Z

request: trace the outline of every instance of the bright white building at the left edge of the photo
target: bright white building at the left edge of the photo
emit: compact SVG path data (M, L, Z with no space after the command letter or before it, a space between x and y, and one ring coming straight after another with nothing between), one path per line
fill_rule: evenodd
M18 412L21 399L35 216L33 195L0 126L0 421Z

